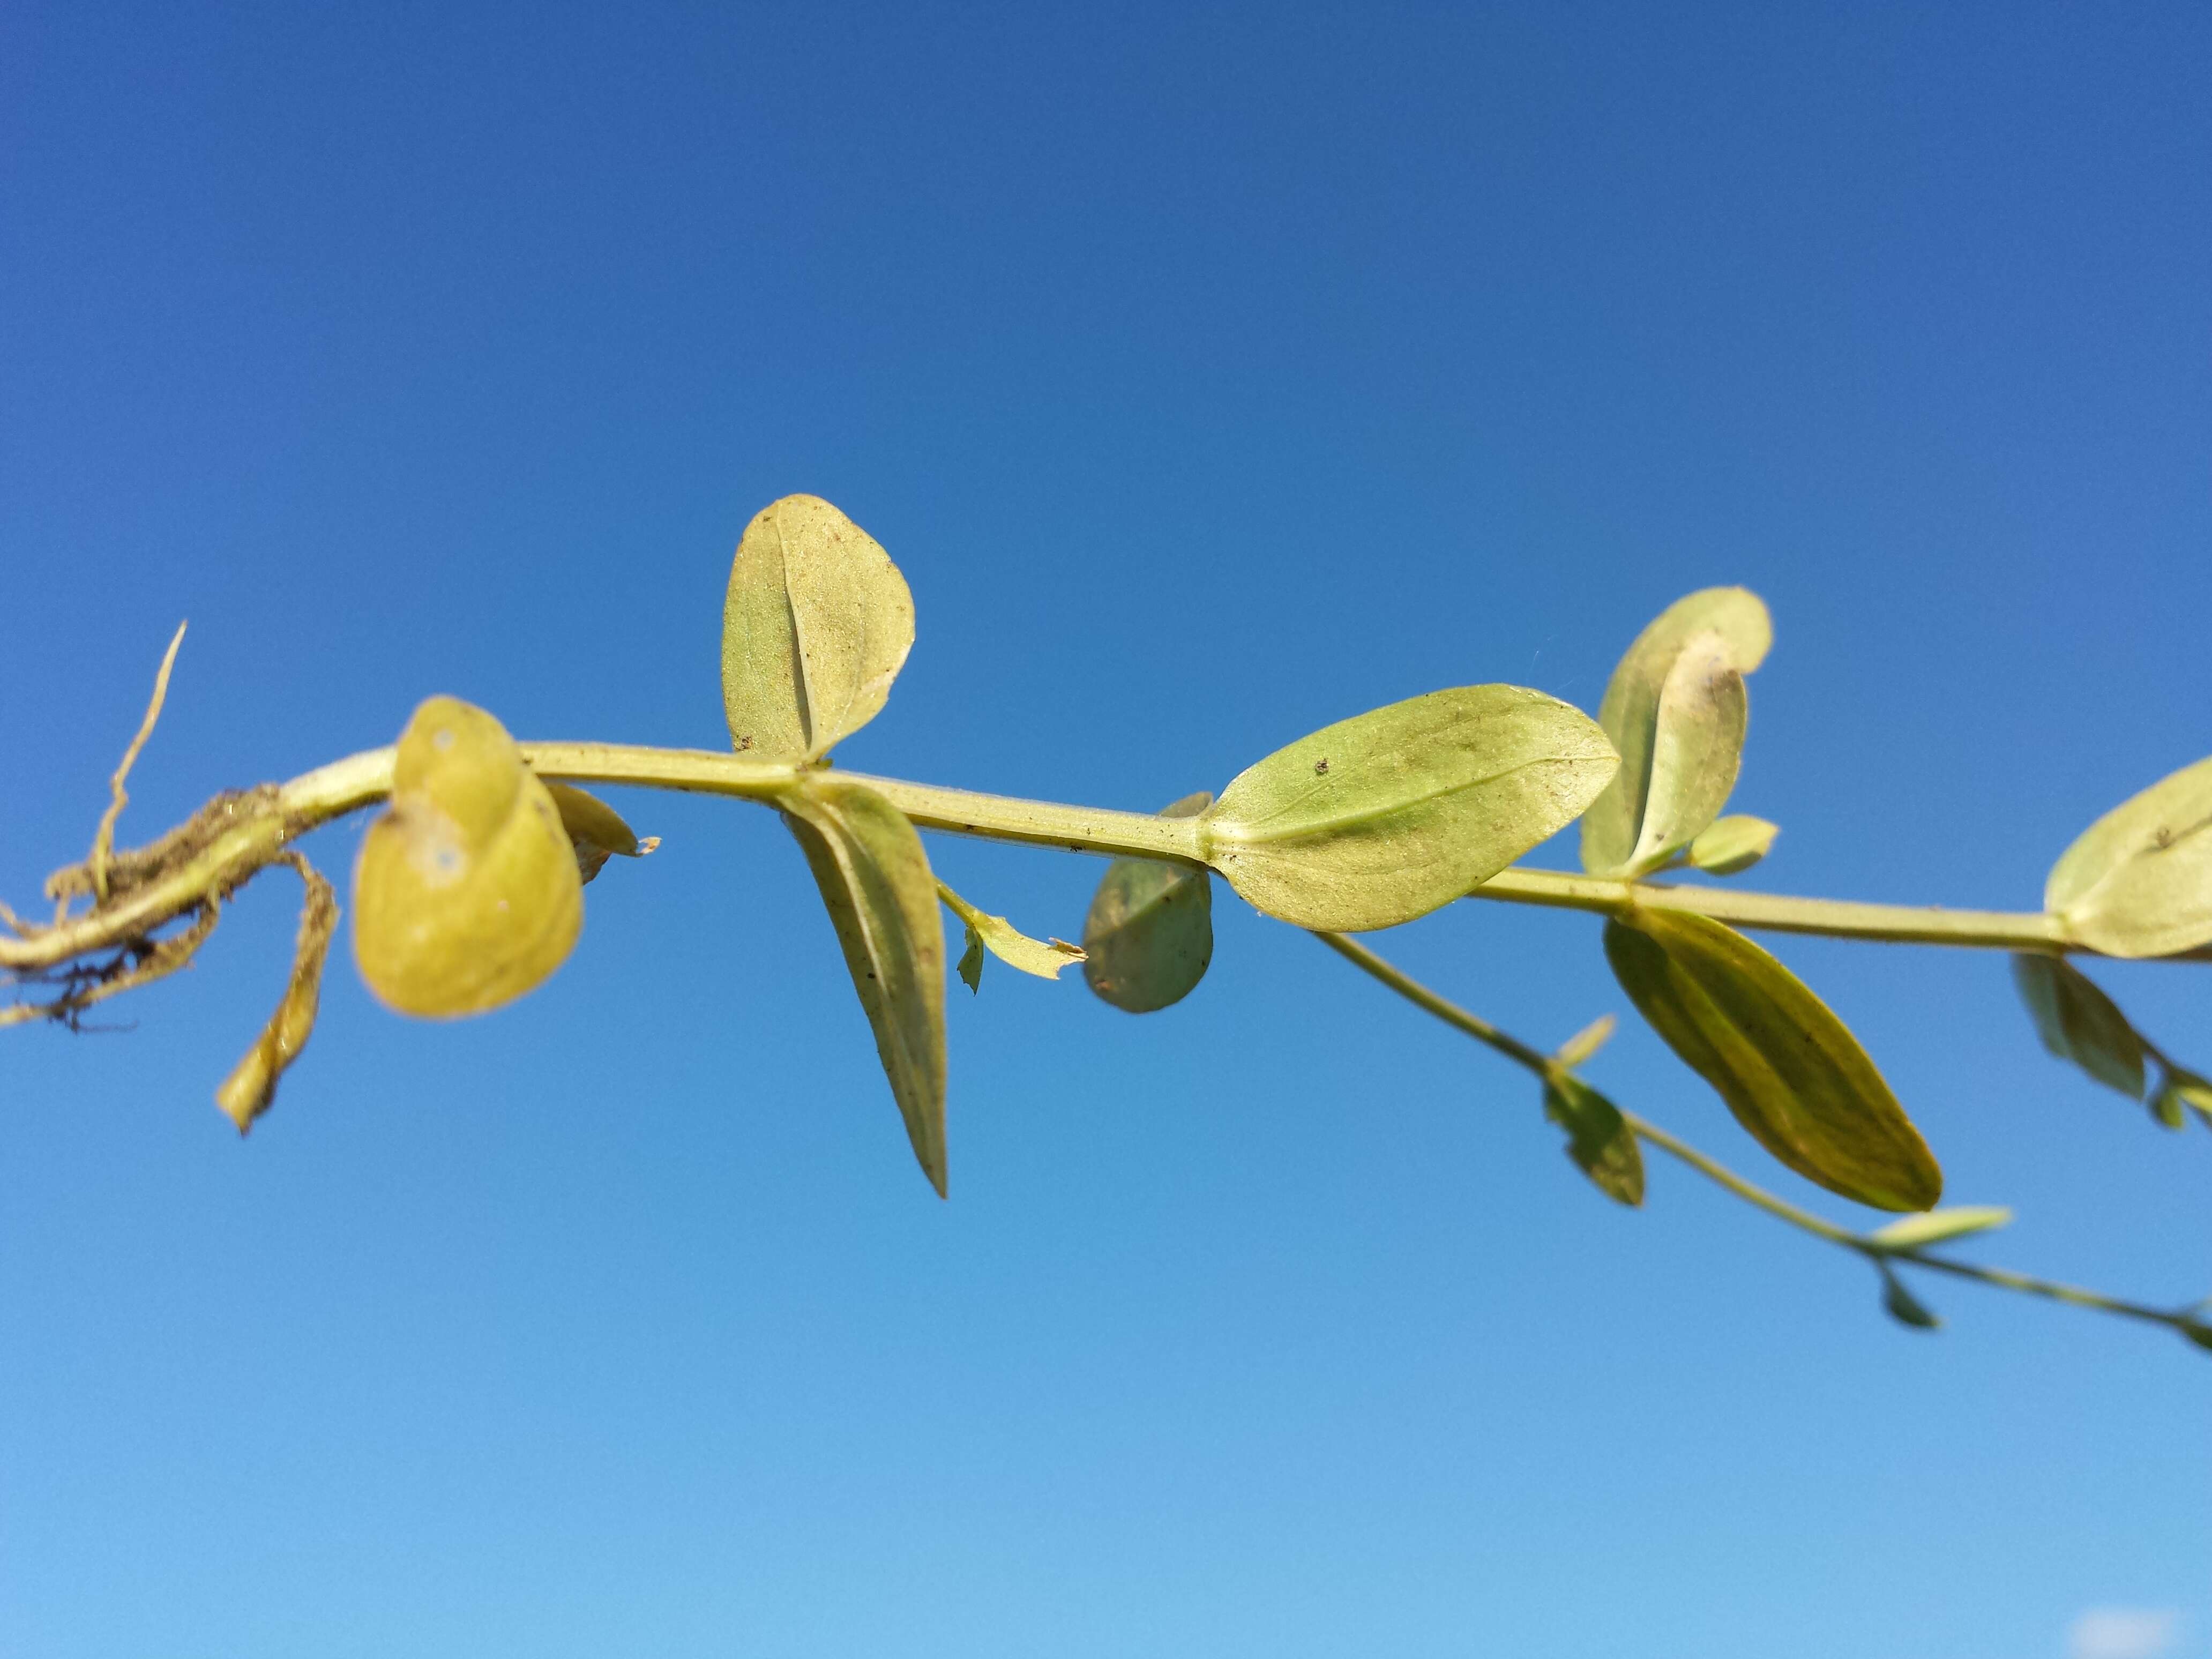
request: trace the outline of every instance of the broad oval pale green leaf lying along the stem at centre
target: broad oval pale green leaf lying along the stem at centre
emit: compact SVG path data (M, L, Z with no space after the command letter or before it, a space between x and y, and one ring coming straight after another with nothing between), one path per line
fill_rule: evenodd
M1460 686L1325 726L1201 814L1208 856L1298 927L1396 927L1564 830L1613 776L1606 734L1524 686Z

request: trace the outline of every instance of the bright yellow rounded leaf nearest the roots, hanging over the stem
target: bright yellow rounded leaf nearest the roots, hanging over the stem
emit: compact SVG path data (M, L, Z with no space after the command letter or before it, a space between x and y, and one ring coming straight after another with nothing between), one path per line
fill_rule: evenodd
M354 865L354 960L389 1006L484 1013L557 969L584 925L560 810L491 714L431 697Z

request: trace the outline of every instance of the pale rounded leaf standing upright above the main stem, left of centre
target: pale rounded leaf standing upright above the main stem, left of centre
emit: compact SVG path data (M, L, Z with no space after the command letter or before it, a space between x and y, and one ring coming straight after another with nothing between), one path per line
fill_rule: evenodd
M911 648L907 580L830 502L785 495L745 526L721 613L721 699L741 754L827 754L883 710Z

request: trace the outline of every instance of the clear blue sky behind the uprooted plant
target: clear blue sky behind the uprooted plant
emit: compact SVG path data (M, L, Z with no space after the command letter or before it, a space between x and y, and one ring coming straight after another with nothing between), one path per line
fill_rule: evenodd
M721 745L730 549L814 491L920 611L849 765L1150 810L1438 686L1595 706L1747 582L1759 883L2033 907L2212 752L2208 86L2185 4L13 4L0 885L179 617L126 834L429 692ZM0 1652L2212 1655L2212 1356L1902 1332L1674 1168L1619 1212L1225 894L1164 1015L953 991L938 1203L783 830L619 803L666 845L546 989L341 960L243 1146L285 878L128 1035L0 1037ZM1099 874L933 854L1033 931ZM1590 918L1387 947L1624 1009ZM2000 958L1783 956L2020 1208L1978 1254L2212 1290L2212 1137ZM2101 978L2212 1062L2203 969ZM1761 1164L1641 1029L1593 1075Z

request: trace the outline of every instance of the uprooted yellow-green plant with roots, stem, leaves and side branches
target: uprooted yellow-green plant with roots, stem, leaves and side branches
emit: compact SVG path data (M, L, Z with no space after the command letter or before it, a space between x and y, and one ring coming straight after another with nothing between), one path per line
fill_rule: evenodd
M181 639L181 630L179 630ZM115 772L91 856L46 880L51 922L0 907L0 975L44 987L0 1024L77 1024L86 1009L175 971L221 905L270 865L307 885L292 975L261 1037L217 1091L239 1130L268 1110L314 1024L338 922L330 883L292 843L385 803L354 867L354 960L389 1006L484 1013L553 973L577 940L582 887L639 841L580 781L739 796L776 807L821 887L876 1035L914 1155L945 1192L945 922L962 922L960 978L984 956L1042 978L1079 962L1117 1009L1188 995L1212 960L1212 878L1413 1006L1531 1071L1568 1157L1610 1199L1644 1201L1652 1146L1767 1214L1867 1259L1882 1305L1933 1327L1900 1279L1920 1267L2166 1325L2212 1349L2205 1303L2150 1307L1933 1254L2008 1210L1936 1208L1942 1170L1874 1060L1787 967L1741 929L1958 945L2013 953L2044 1044L2150 1106L2166 1128L2212 1124L2212 1082L2143 1037L2068 958L2212 960L2212 759L2174 772L2090 825L2028 914L1858 905L1655 880L1728 876L1767 852L1774 825L1723 816L1747 728L1745 677L1767 655L1765 606L1743 588L1672 604L1628 648L1599 717L1522 686L1458 686L1327 726L1241 772L1219 799L1159 814L1013 801L830 770L830 750L874 719L914 646L914 599L889 555L830 502L787 495L745 526L723 611L730 754L615 743L515 743L451 697L422 703L394 748L283 785L215 796L159 841L115 852ZM1515 860L1582 821L1582 874ZM1084 942L1033 940L945 887L918 830L1110 854ZM1838 1197L1902 1219L1825 1221L1615 1106L1582 1068L1606 1015L1555 1051L1498 1031L1349 938L1458 898L1597 911L1606 960L1635 1009L1721 1095L1776 1161ZM77 900L91 900L77 909Z

